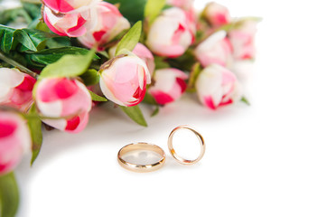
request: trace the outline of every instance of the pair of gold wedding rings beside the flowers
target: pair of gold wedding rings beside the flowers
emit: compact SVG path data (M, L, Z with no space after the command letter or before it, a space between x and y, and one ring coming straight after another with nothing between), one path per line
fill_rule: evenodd
M201 153L194 160L188 160L188 159L182 158L182 156L179 156L175 152L175 149L173 148L173 136L180 129L190 130L199 139L199 142L200 142L200 145L201 145ZM169 148L169 152L172 154L173 158L175 160L177 160L179 163L181 163L182 165L193 165L193 164L196 164L197 162L199 162L201 160L201 158L203 157L204 152L205 152L205 143L204 143L203 137L201 136L200 133L198 133L192 127L183 125L183 126L174 128L173 131L171 132L171 134L169 135L169 137L168 137L168 148ZM148 164L148 165L147 164L136 165L134 163L127 162L126 159L125 160L123 159L124 156L126 156L127 153L131 153L131 152L136 151L136 150L137 151L140 151L140 150L142 150L142 151L152 151L152 152L160 155L160 159L157 160L156 162L154 162L153 164ZM117 160L118 160L119 165L123 166L127 170L134 171L134 172L139 172L139 173L145 173L145 172L151 172L151 171L154 171L154 170L157 170L157 169L160 169L161 167L163 167L163 165L165 163L165 154L164 154L163 149L160 146L155 146L154 144L139 142L139 143L133 143L133 144L129 144L129 145L126 145L126 146L122 147L118 152Z

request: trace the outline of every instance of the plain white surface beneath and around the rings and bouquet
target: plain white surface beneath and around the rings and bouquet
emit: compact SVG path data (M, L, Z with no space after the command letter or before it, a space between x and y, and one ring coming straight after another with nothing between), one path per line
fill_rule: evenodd
M264 18L252 106L212 112L185 97L147 118L147 128L101 107L79 135L45 132L33 168L26 157L17 169L17 216L327 216L323 1L220 3L234 16ZM182 124L207 142L199 165L179 165L168 154L167 137ZM117 151L136 141L162 146L167 165L150 174L121 168Z

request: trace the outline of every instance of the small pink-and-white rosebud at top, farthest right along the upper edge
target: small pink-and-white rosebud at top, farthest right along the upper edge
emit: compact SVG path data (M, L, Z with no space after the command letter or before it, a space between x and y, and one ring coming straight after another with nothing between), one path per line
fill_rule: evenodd
M229 24L231 18L229 9L215 2L211 2L203 10L202 16L215 28Z

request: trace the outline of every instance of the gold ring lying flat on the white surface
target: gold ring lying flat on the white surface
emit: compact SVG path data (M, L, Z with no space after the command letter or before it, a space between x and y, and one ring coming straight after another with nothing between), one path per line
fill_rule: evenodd
M135 165L129 162L126 162L126 160L123 159L123 156L131 151L135 150L148 150L148 151L153 151L161 156L161 159L154 164L151 165ZM154 170L160 169L165 162L165 154L163 149L160 146L155 146L153 144L148 144L148 143L132 143L126 146L123 146L117 155L117 160L119 165L123 166L127 170L133 171L133 172L138 172L138 173L145 173L145 172L152 172Z

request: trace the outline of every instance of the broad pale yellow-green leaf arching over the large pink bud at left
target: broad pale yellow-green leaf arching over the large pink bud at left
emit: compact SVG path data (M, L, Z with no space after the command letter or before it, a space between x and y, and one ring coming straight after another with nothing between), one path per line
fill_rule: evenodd
M64 55L59 61L47 65L39 78L77 77L89 69L94 53L92 50L86 55Z

